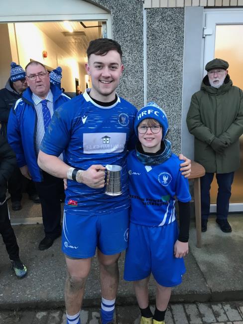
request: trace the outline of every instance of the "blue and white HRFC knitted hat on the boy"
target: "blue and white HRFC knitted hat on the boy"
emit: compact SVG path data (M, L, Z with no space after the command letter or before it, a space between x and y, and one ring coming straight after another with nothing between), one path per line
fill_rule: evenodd
M138 125L146 118L155 119L163 129L162 140L166 138L168 133L168 120L165 112L162 108L160 108L155 102L151 101L146 106L142 107L136 114L135 122L134 122L134 130L136 136L138 136Z

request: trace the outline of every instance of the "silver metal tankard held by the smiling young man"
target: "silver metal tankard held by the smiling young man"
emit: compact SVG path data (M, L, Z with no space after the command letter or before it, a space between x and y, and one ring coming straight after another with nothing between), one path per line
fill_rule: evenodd
M122 194L121 171L120 165L106 165L106 194L110 196L118 196Z

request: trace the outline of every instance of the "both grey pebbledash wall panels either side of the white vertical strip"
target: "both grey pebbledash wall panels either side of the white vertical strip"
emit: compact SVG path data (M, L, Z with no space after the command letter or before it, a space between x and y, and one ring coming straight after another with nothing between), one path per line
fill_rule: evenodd
M181 152L184 8L148 8L144 17L142 0L94 0L92 3L111 12L113 38L122 45L125 70L119 94L140 109L144 104L145 68L146 101L156 101L165 109L173 150ZM146 35L143 34L144 18Z

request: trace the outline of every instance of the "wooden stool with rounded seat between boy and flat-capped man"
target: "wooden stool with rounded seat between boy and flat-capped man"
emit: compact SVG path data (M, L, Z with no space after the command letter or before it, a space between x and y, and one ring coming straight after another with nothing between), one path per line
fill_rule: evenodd
M197 247L202 246L202 232L201 232L201 188L200 177L205 175L205 168L192 161L192 171L188 179L194 179L194 203L195 203L195 219L196 219L196 232L197 232Z

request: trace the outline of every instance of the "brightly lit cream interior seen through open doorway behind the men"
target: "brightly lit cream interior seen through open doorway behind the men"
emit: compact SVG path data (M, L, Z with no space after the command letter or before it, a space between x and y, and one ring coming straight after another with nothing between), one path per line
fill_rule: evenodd
M5 67L1 69L0 87L9 78L11 61L24 68L30 60L36 60L47 66L48 71L57 66L62 68L61 86L71 96L76 95L77 83L84 92L86 49L92 39L103 37L104 23L97 20L0 23L5 42L4 53L0 55L0 68Z

